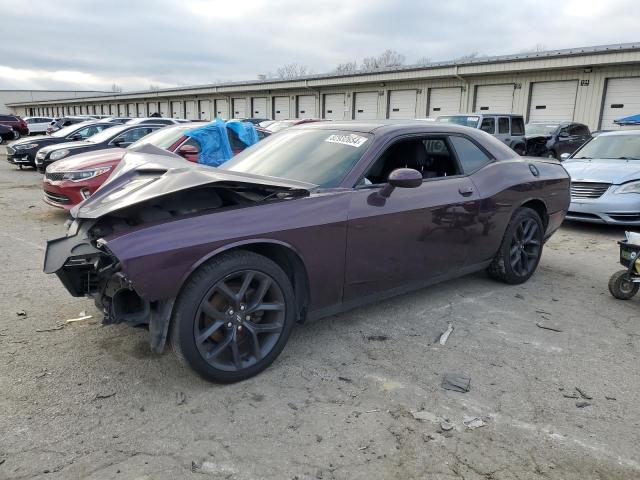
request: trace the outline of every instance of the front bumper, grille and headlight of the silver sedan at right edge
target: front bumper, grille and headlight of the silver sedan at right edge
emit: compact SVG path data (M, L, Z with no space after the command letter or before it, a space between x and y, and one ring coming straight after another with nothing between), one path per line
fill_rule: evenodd
M640 225L640 194L613 193L600 198L571 198L567 220L608 225Z

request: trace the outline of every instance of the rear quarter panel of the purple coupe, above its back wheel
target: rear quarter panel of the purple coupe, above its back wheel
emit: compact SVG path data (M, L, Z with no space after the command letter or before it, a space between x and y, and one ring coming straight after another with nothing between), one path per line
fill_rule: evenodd
M538 170L537 177L529 165ZM481 231L477 237L480 241L472 253L477 261L495 255L513 213L523 204L542 201L548 214L566 212L569 208L569 175L558 162L514 158L487 165L471 178L481 197Z

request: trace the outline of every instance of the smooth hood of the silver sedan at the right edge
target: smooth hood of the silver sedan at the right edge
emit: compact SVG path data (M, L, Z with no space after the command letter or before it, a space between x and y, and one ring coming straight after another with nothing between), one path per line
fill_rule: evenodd
M574 182L603 182L619 185L640 180L638 160L579 160L568 159L562 166Z

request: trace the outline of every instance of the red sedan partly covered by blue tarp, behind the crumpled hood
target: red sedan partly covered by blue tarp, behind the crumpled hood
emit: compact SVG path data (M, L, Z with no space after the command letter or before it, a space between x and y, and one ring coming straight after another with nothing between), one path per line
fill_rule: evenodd
M193 129L194 126L199 125L181 124L165 127L141 138L128 148L150 144L197 163L200 145L193 138L184 135L185 131ZM260 139L271 133L264 129L256 128L256 130ZM246 148L235 132L230 129L227 129L227 132L234 155ZM93 195L93 192L107 180L110 173L120 163L125 153L127 153L126 148L110 148L81 153L52 163L47 167L42 180L44 201L54 207L67 210L73 208Z

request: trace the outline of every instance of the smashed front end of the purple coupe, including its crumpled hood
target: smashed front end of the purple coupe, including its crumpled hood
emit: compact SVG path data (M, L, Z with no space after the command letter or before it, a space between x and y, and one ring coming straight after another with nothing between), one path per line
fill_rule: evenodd
M44 272L55 273L71 295L93 298L103 323L148 326L151 348L160 353L174 298L147 298L136 289L135 275L127 271L128 252L120 251L118 258L110 242L146 226L214 210L307 196L309 187L186 164L145 147L125 155L107 182L71 210L75 218L67 235L47 242Z

